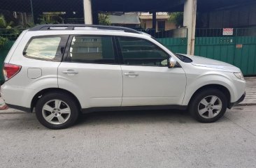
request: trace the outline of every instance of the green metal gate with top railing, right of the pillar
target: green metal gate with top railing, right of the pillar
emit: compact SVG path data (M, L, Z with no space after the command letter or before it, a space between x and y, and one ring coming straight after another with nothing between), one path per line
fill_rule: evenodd
M224 35L223 35L224 34ZM256 75L256 28L197 29L194 55L230 63L244 75Z

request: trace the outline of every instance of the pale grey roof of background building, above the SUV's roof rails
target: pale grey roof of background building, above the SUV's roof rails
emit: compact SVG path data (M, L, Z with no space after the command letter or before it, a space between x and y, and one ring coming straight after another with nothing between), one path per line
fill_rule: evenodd
M141 24L138 14L125 13L122 15L109 15L111 24Z

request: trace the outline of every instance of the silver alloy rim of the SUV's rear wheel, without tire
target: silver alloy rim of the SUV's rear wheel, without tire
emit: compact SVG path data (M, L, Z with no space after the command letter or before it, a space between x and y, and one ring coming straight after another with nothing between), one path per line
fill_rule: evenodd
M71 109L62 100L50 100L43 105L43 119L48 123L59 125L69 120Z

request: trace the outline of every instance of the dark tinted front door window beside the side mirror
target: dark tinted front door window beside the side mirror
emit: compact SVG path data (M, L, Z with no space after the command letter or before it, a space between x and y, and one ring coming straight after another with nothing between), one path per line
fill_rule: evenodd
M141 38L118 38L125 65L166 66L169 55L157 45Z

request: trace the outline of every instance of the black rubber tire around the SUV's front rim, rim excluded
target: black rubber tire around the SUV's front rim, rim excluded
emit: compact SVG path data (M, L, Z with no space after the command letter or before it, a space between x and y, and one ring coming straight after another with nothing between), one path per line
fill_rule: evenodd
M204 109L204 108L208 109L208 106L204 107L204 105L202 105L202 103L200 103L200 102L204 98L206 98L206 100L208 98L209 99L212 98L211 96L217 96L221 100L222 105L219 105L219 106L222 106L222 108L221 108L221 110L213 109L213 110L215 110L215 114L214 114L213 110L212 110L212 112L215 116L213 116L210 119L206 119L205 117L208 117L210 112L206 111L204 113L205 116L203 114L200 115L199 109ZM220 102L220 100L218 100L218 102ZM208 100L208 101L210 104L211 100ZM201 106L203 106L203 107L201 107ZM216 106L218 106L218 105L216 105ZM210 105L210 108L211 108L211 105ZM212 123L212 122L218 121L218 119L220 119L225 114L226 110L227 110L227 97L225 96L224 93L222 93L218 89L205 89L203 91L200 91L195 96L193 96L193 98L190 102L190 106L189 106L189 112L192 115L192 117L201 123Z

